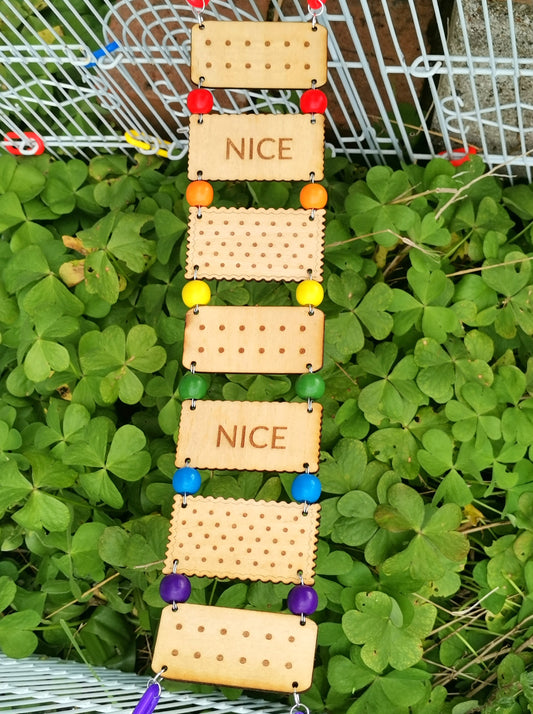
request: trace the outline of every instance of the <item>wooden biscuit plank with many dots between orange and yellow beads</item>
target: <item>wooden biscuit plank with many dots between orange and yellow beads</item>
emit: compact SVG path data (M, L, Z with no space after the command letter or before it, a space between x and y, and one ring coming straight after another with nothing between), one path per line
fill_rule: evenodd
M203 208L189 211L185 277L322 280L324 216L319 209Z

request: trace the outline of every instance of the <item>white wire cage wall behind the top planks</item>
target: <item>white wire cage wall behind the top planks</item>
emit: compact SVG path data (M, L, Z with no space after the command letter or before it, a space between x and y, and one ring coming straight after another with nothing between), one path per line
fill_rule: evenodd
M531 180L533 6L328 0L328 140L354 162L471 150ZM217 20L309 20L306 0L211 0ZM3 0L0 132L18 153L187 150L186 0ZM299 111L297 92L219 90L215 111ZM135 148L134 148L135 147Z

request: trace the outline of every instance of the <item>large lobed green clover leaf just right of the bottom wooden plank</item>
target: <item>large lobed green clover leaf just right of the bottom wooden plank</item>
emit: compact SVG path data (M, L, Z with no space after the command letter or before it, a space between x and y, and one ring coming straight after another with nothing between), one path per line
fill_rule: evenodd
M391 619L393 600L382 592L359 593L357 610L342 618L350 642L362 644L361 659L374 672L388 664L394 669L412 667L422 657L422 640L431 632L437 610L433 605L416 605L408 625L397 626Z

